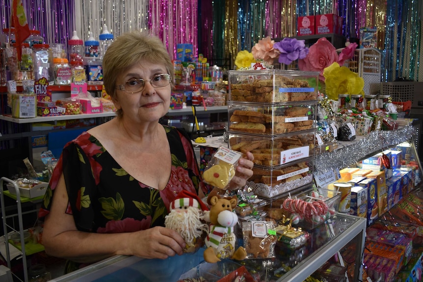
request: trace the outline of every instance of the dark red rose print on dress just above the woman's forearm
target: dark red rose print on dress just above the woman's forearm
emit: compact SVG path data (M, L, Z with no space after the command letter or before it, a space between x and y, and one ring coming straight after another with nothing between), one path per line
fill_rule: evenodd
M123 233L135 232L149 229L151 225L151 216L139 221L133 218L125 218L123 220L110 220L106 223L106 227L99 227L97 233Z

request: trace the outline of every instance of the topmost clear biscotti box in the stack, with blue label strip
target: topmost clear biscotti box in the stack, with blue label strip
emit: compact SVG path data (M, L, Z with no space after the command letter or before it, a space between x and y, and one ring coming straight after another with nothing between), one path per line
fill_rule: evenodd
M316 101L318 72L228 71L229 101L278 103Z

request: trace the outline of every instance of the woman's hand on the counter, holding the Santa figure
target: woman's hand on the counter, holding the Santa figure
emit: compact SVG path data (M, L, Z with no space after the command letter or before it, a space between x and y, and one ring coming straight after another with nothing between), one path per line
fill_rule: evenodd
M178 232L158 226L133 232L128 248L133 256L165 259L169 256L182 255L185 240Z

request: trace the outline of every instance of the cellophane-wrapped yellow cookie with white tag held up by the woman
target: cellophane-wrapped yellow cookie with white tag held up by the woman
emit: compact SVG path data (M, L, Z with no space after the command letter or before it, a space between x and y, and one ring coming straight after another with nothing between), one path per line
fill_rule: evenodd
M241 156L242 154L237 151L220 147L204 170L204 182L222 190L228 189Z

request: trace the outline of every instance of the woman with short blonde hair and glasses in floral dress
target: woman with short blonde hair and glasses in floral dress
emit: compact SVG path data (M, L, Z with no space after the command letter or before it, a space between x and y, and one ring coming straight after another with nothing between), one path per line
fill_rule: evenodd
M190 140L159 124L174 73L160 39L123 34L107 49L103 69L117 117L65 146L39 214L46 252L72 261L68 272L113 255L182 255L184 239L164 227L169 203L181 190L208 192ZM252 160L250 153L239 160L232 189L252 176Z

